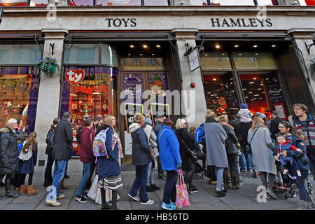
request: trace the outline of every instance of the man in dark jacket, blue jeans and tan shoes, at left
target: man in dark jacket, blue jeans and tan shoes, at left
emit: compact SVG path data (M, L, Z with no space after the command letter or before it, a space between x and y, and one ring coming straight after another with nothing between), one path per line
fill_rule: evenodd
M54 149L52 151L52 158L55 160L54 179L45 201L46 204L55 207L60 206L57 200L65 197L65 195L59 195L59 191L60 182L64 177L64 171L66 169L66 162L71 159L73 132L70 120L71 114L64 112L62 120L55 130Z

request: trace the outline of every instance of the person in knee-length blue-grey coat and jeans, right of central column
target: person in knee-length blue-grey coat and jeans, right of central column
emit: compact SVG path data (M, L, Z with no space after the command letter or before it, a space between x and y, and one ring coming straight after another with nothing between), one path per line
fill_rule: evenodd
M206 123L204 123L207 165L216 167L216 194L219 197L223 197L225 196L225 193L223 192L224 186L222 185L223 172L224 168L229 167L228 155L226 154L225 149L225 139L228 138L228 135L222 125L218 124L214 118L216 118L216 113L207 110Z

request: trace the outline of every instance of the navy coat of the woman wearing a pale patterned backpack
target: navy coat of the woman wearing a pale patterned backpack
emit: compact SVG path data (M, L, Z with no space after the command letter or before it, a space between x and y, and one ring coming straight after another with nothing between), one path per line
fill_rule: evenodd
M110 127L105 125L106 129ZM107 176L118 176L120 172L120 166L118 162L118 142L114 146L114 149L111 146L113 140L113 128L110 127L106 131L106 152L109 155L109 158L106 156L101 156L97 158L97 175L99 176L99 181L104 179Z

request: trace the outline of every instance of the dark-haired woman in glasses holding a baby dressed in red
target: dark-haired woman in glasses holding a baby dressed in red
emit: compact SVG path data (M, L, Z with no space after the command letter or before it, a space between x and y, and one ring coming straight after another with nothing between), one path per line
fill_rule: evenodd
M297 164L300 167L300 172L302 176L297 176L296 171L293 169L291 176L297 176L297 179L295 179L295 183L297 185L297 188L299 189L299 207L298 210L306 210L307 209L307 190L305 188L305 179L307 179L307 174L309 173L309 160L306 153L306 146L304 144L304 134L302 132L297 132L295 128L288 123L286 120L283 120L279 123L279 130L281 134L284 134L288 139L290 139L290 142L293 146L300 148L302 150L302 153L298 153L297 151L282 151L281 155L283 157L291 156L295 158ZM277 144L277 143L276 143ZM310 195L311 197L311 195Z

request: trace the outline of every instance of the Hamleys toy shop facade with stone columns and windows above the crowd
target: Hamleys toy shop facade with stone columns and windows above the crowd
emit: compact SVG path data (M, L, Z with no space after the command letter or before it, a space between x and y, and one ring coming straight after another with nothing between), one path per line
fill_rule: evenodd
M60 6L56 20L48 20L46 8L4 8L1 126L6 118L22 118L28 132L38 133L37 172L43 173L45 136L64 111L71 112L73 129L85 116L115 115L125 162L131 161L132 113L152 112L156 104L159 113L174 121L188 116L195 126L207 108L231 115L241 103L283 118L296 102L314 113L309 60L315 47L308 53L305 43L314 43L315 8L267 6L265 18L259 12L255 6ZM200 67L191 71L186 52L196 45ZM61 76L38 71L41 56L56 58ZM146 90L150 97L141 95ZM174 113L176 99L167 102L167 90L181 91L180 113ZM69 162L69 170L80 171L79 160Z

